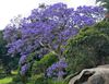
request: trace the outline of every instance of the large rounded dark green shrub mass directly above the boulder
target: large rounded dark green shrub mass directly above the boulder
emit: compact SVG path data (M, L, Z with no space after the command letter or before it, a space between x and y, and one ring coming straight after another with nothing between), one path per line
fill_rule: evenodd
M68 41L65 55L70 73L109 63L109 22L81 29Z

